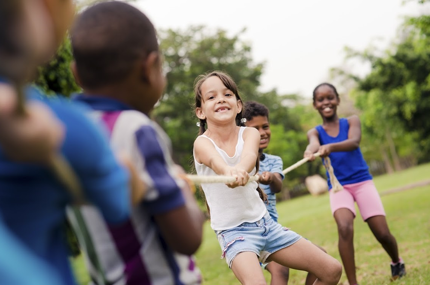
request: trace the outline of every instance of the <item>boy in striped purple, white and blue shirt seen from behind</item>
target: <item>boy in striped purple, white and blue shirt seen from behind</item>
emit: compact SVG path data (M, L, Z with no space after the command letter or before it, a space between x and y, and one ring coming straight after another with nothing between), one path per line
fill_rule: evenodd
M102 2L77 17L71 41L72 70L84 90L75 100L103 121L112 147L132 157L147 189L122 228L109 227L90 206L71 213L93 282L199 284L192 254L204 218L171 158L170 140L148 117L165 84L152 23L131 5Z

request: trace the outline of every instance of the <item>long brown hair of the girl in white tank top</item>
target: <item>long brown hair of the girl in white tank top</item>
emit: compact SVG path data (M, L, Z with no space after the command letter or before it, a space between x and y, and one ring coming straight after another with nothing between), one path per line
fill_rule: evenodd
M196 80L194 81L194 94L195 94L194 110L196 110L196 108L201 107L201 103L203 100L202 94L201 94L201 85L203 84L203 82L206 79L208 79L209 77L212 77L212 76L217 76L223 82L224 86L226 86L229 90L231 90L234 93L234 95L236 96L236 99L242 101L242 99L240 98L240 95L239 95L239 89L237 88L236 83L230 77L230 75L228 75L227 73L222 72L222 71L212 71L212 72L201 74L201 75L197 76ZM237 113L237 115L236 115L236 125L237 126L243 125L243 123L241 122L241 119L242 119L242 112L243 112L244 105L245 104L242 104L242 110L239 113ZM199 127L198 135L200 136L206 131L206 127L205 127L206 120L203 120L203 119L199 119L199 120L200 120L200 127ZM255 173L259 173L259 168L260 168L260 153L259 153L259 155L257 155L257 159L255 161L255 169L256 169ZM260 188L260 186L258 186L256 190L259 193L260 198L263 201L267 201L267 195ZM202 195L202 197L205 197L201 187L200 187L200 194ZM207 205L206 199L205 199L205 203L206 203L207 211L210 213L209 206Z

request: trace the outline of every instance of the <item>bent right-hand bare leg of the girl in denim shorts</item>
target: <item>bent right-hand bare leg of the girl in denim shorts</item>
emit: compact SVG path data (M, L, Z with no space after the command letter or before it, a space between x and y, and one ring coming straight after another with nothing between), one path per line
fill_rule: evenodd
M312 272L314 285L336 285L342 274L340 263L305 239L272 253L270 259L289 268Z

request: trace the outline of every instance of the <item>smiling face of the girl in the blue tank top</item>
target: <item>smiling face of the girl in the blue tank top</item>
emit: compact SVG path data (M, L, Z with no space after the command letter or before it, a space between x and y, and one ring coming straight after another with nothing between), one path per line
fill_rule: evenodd
M318 110L323 119L331 119L336 116L339 97L328 85L321 85L315 90L314 107Z

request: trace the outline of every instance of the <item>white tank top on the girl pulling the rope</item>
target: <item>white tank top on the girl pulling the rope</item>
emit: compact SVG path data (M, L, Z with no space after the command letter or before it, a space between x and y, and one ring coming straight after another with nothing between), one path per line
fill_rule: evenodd
M200 137L210 140L227 165L234 166L239 163L242 154L244 130L245 127L240 127L236 152L232 157L228 156L224 150L219 148L207 136L201 135ZM211 168L198 163L195 159L194 164L197 175L217 175ZM255 167L249 175L254 174ZM223 183L202 183L201 187L210 209L210 226L215 231L228 230L243 222L257 221L266 213L266 205L256 191L258 184L255 181L248 182L245 186L236 188L229 188Z

